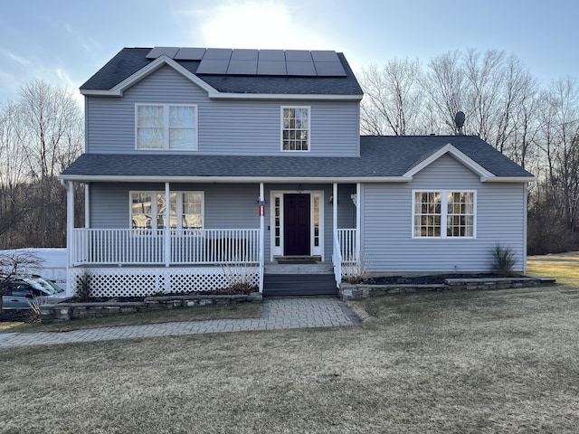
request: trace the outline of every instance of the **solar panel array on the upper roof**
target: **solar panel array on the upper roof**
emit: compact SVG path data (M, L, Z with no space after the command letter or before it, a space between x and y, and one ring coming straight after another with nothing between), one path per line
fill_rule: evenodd
M329 50L155 47L147 59L162 55L176 61L201 61L198 74L346 77L337 53Z

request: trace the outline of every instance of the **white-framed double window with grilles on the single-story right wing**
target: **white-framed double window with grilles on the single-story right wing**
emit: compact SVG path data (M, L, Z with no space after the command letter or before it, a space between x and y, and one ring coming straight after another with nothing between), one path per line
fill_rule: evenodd
M474 238L476 192L414 191L413 238Z

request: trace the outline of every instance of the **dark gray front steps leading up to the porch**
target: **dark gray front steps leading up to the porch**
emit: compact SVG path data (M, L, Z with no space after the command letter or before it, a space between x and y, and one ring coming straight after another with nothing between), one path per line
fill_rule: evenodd
M334 274L265 274L263 297L337 296Z

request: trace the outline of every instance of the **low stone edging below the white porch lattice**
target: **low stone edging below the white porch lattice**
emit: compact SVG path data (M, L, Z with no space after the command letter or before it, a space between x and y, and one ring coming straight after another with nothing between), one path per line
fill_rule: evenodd
M204 305L231 305L233 303L261 303L261 293L253 292L249 295L184 295L146 297L144 301L119 302L109 301L100 303L58 303L43 305L41 310L42 323L70 321L76 318L93 318L97 316L111 316L146 312L155 309L172 309L174 307L195 307Z

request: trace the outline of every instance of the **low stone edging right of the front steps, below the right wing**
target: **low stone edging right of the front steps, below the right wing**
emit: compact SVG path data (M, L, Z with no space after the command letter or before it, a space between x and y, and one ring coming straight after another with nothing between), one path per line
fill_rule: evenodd
M339 296L342 300L402 294L419 291L463 291L472 289L507 289L552 285L555 278L446 278L444 283L435 285L366 285L341 283Z

